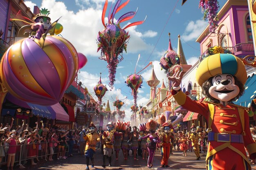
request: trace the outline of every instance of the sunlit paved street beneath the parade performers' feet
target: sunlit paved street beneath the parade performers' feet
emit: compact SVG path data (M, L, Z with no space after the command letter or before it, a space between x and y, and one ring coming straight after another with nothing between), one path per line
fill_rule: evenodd
M160 151L157 150L153 167L151 170L205 170L205 156L206 154L201 154L201 160L196 160L193 152L187 152L187 156L182 156L182 152L174 151L174 154L170 156L168 164L169 168L160 168L161 154ZM29 163L27 163L29 164ZM23 170L85 170L85 157L79 154L74 154L73 157L69 157L67 159L54 160L54 161L45 161L41 160L38 162L36 166L27 166L27 168ZM137 157L137 160L134 160L131 155L127 160L124 160L123 154L119 152L119 159L115 159L115 152L112 155L112 167L102 168L102 155L100 150L96 151L96 155L94 158L94 168L91 168L90 162L90 170L150 170L147 168L147 161L142 159L140 156ZM108 159L107 163L108 165ZM4 167L2 167L4 168ZM16 166L15 169L18 169ZM256 166L252 166L252 169L256 170ZM4 170L4 169L3 169Z

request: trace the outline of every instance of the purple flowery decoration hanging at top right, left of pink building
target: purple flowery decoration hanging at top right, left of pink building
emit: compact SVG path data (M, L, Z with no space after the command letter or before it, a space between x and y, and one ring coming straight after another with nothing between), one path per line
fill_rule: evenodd
M209 32L214 33L218 26L218 9L220 8L218 0L200 0L199 8L204 12L204 20L208 20Z

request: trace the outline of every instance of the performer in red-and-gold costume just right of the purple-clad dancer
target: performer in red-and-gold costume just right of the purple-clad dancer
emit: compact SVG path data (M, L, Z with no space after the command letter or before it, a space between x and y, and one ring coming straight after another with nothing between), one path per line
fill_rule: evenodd
M173 125L171 124L171 121L168 120L167 122L162 124L162 127L158 131L159 139L161 141L160 148L162 153L162 160L161 160L162 168L169 167L168 159L170 157L170 150L171 150L171 129L172 128L173 128Z

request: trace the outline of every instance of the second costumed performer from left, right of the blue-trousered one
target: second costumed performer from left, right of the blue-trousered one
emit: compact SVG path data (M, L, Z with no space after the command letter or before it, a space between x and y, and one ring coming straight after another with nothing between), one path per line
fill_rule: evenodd
M114 141L114 134L115 126L113 122L108 122L107 124L107 131L103 132L102 139L103 139L103 168L106 168L106 160L108 157L108 166L111 165L111 155L113 152L113 141Z

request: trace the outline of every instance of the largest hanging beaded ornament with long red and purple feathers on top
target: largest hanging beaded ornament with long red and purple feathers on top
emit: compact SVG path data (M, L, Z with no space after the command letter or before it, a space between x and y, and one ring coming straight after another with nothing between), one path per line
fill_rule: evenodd
M128 32L126 33L125 29L127 29L130 26L135 26L142 24L144 21L138 21L138 22L133 22L131 24L128 24L124 29L121 29L120 23L132 19L137 11L131 11L128 13L125 13L122 15L116 23L114 23L114 17L115 14L121 10L123 7L125 7L130 0L127 0L124 2L124 4L119 4L121 3L121 0L117 0L117 3L115 4L115 7L111 12L108 14L108 23L105 24L105 14L106 10L108 7L108 0L106 0L103 11L102 11L102 24L105 27L101 32L98 34L98 50L101 50L101 57L99 59L105 60L108 65L108 77L109 77L109 86L110 86L110 91L113 89L113 85L115 82L115 74L116 74L116 69L117 69L117 64L123 60L122 53L123 51L126 51L126 47L128 44L128 40L130 38L130 35L128 35ZM112 7L112 6L111 6ZM110 11L111 11L110 7Z

